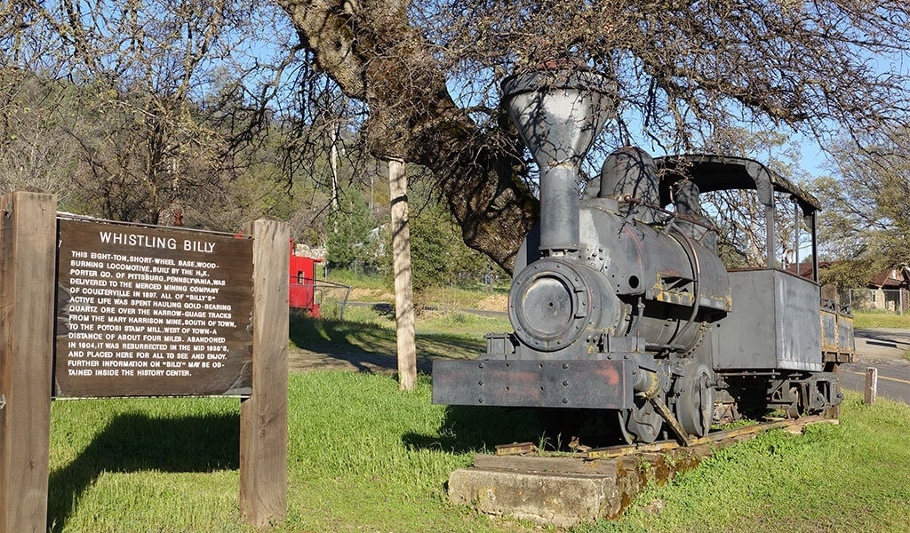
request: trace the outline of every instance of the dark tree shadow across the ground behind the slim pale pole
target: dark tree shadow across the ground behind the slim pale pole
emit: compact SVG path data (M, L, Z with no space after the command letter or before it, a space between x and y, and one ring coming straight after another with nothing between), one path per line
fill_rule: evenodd
M398 368L395 331L389 327L292 315L289 329L290 342L294 346L349 363L359 372L378 373ZM468 357L479 353L483 347L483 341L445 334L419 334L418 370L430 373L432 357Z

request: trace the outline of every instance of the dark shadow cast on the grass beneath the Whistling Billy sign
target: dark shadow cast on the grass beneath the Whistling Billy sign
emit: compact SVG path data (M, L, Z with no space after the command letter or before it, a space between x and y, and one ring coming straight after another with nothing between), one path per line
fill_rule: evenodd
M102 472L210 472L237 469L238 414L152 418L115 417L63 468L50 474L47 530L62 531L79 498Z

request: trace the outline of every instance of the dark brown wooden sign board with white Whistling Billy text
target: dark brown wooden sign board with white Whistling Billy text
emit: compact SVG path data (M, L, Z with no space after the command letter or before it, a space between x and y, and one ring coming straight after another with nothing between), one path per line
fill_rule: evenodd
M57 218L55 397L246 396L250 238Z

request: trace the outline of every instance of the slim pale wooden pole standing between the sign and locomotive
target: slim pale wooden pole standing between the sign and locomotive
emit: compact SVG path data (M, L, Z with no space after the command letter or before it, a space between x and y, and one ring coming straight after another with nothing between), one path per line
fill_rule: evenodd
M408 177L404 161L387 158L391 200L392 263L395 272L395 328L398 340L399 388L417 384L417 346L414 339L414 292L410 277Z

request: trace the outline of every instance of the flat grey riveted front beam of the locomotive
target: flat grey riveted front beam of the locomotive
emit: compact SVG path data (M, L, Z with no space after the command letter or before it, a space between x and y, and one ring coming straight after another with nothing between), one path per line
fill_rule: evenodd
M634 405L625 359L433 361L433 403L456 406L626 409Z

